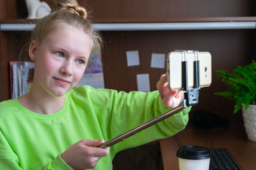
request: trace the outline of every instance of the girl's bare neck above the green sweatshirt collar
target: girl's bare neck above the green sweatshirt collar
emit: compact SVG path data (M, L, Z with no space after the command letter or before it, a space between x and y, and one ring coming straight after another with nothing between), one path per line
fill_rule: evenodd
M31 91L19 98L20 104L28 110L44 115L56 113L63 108L65 104L65 96L51 96L47 93L38 94L33 88Z

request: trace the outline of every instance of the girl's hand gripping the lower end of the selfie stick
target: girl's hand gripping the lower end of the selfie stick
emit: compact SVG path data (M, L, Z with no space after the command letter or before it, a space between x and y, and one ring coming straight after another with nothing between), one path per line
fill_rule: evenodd
M93 169L97 162L108 155L109 148L99 148L104 139L82 139L61 153L61 159L73 169Z

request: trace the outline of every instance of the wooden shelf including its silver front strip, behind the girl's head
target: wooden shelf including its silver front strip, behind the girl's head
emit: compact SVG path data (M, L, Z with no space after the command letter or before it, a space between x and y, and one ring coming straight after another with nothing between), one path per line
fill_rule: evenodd
M141 22L142 21L142 22ZM36 20L0 20L1 31L31 31ZM127 18L93 20L99 31L145 31L145 30L202 30L202 29L255 29L256 17L210 17L210 18Z

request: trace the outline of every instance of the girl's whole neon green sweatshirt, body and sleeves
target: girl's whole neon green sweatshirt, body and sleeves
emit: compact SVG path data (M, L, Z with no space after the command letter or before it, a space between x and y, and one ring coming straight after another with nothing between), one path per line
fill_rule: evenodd
M0 169L71 169L60 153L72 144L81 139L108 141L169 109L158 91L125 93L83 86L65 97L65 106L52 115L29 111L17 99L0 103ZM117 152L181 131L189 110L111 146L95 169L112 169Z

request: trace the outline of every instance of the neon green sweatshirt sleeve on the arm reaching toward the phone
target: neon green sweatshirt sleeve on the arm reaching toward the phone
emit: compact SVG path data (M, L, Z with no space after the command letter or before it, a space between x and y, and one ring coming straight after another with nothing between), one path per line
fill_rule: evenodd
M95 113L102 125L102 132L106 136L105 140L115 138L171 109L163 105L158 91L125 93L115 90L102 90L100 93L99 91L92 92L90 97L95 106ZM182 131L188 124L190 109L180 111L172 117L166 118L124 141L120 141L113 145L112 149L117 153L156 139L173 136Z

